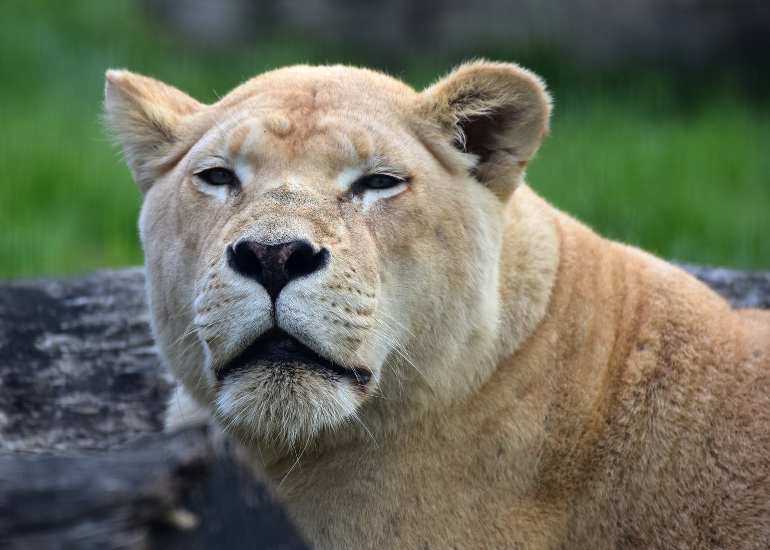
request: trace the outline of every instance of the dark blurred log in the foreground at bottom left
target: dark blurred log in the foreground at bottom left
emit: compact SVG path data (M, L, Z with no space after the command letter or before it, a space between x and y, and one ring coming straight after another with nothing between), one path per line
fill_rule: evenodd
M0 456L3 548L306 548L269 489L206 428L126 448Z

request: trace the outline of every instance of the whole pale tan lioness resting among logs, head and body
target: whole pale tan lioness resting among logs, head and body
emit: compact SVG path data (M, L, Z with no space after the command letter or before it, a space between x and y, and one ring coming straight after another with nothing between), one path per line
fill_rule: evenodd
M316 548L770 545L770 313L524 185L549 105L490 62L107 73L169 426L213 415Z

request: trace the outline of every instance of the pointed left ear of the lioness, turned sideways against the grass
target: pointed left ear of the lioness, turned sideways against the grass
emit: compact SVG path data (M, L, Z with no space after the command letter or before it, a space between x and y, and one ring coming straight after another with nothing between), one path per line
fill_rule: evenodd
M189 95L154 78L107 71L105 118L143 193L192 145L189 122L203 108Z

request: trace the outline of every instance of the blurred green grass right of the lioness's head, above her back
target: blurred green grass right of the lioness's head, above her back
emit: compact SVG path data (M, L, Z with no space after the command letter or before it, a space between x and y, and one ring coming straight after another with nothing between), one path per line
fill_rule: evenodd
M528 181L610 238L665 258L767 269L768 138L766 112L734 97L690 115L605 98L554 117Z

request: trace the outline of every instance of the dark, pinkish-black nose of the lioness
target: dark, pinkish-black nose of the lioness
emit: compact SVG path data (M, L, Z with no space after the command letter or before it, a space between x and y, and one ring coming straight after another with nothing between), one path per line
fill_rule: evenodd
M307 241L263 245L261 242L239 242L228 251L230 267L244 277L263 285L275 302L284 286L295 278L310 275L326 264L329 252L315 252Z

